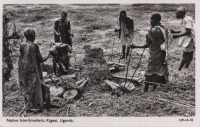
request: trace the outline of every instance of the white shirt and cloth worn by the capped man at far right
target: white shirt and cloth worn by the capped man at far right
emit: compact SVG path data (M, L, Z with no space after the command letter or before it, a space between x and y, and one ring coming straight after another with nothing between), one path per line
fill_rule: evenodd
M186 28L191 29L191 34L182 36L179 39L179 45L185 48L188 47L190 43L195 43L194 20L190 16L185 16L183 18L181 24L181 34L186 32Z

